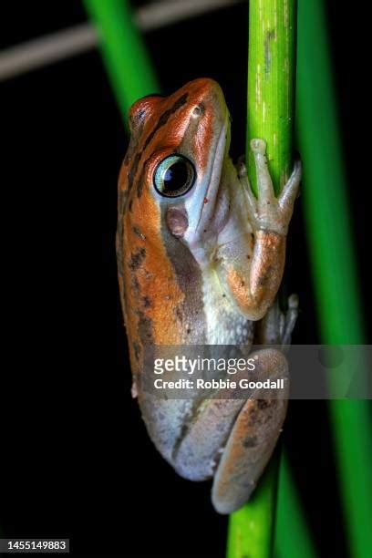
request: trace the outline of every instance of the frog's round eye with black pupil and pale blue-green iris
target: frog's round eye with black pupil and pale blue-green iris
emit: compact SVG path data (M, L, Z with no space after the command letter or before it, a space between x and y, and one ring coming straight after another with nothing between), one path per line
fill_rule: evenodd
M195 181L191 160L183 155L170 155L161 160L154 173L154 186L162 196L177 198L191 190Z

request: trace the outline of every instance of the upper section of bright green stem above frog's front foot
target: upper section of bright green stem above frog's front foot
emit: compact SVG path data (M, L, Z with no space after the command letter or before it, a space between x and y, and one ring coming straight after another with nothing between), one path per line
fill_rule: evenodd
M251 0L249 4L247 138L266 141L276 194L292 171L295 5L295 0ZM248 141L246 159L257 194Z

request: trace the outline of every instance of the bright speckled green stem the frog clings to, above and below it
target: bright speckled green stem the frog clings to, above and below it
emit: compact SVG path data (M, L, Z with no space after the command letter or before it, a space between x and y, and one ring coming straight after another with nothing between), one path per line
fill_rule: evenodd
M295 1L249 4L247 169L257 195L250 140L266 141L278 193L292 170ZM230 518L228 558L264 558L273 549L278 457L269 464L251 500Z

